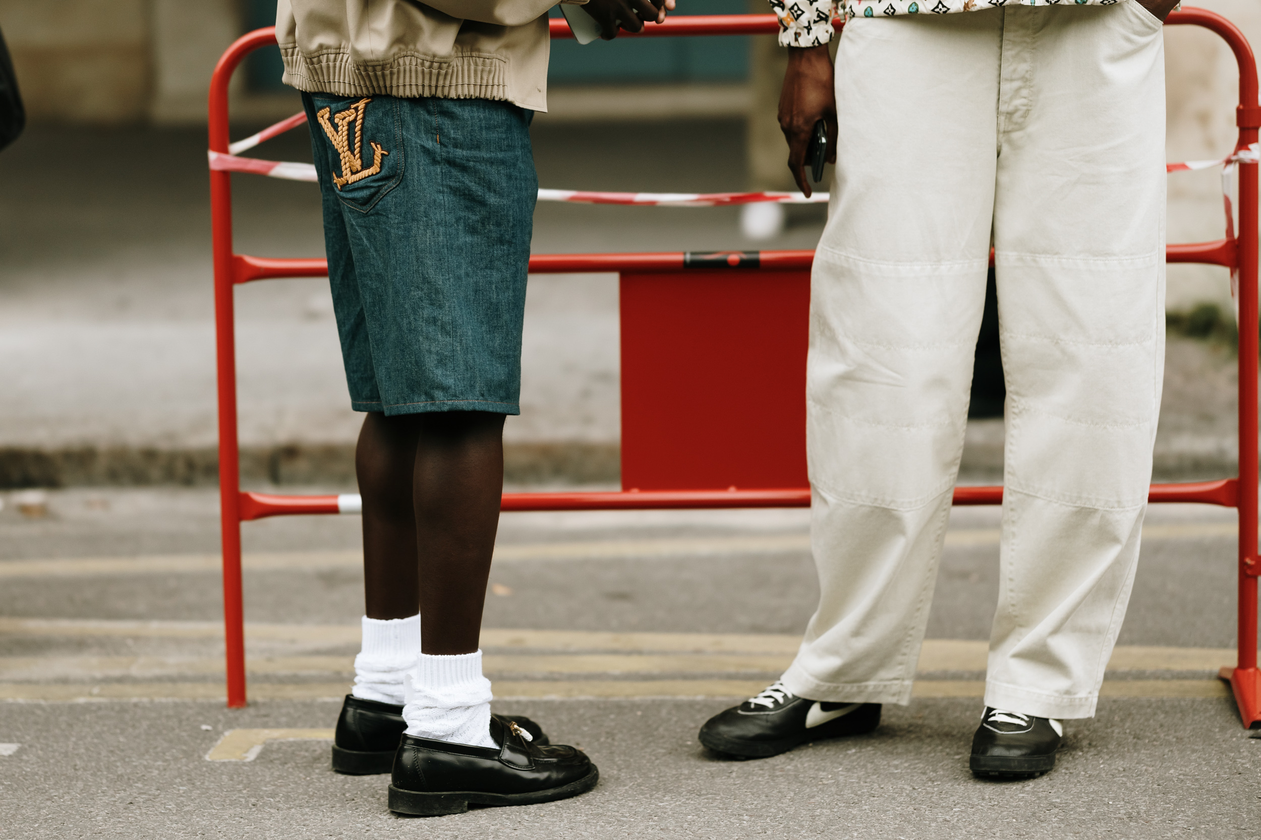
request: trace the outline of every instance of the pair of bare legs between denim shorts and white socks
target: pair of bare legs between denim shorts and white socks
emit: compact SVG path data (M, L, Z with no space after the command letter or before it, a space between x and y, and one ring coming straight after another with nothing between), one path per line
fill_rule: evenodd
M419 610L424 652L472 654L499 523L503 414L371 413L356 472L367 616Z

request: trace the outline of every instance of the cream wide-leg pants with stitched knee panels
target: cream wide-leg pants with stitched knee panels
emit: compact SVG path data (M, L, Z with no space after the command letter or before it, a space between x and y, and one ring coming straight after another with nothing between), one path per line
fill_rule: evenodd
M1134 0L851 20L807 365L822 594L787 688L910 698L991 237L1006 374L986 705L1095 713L1164 361L1160 23Z

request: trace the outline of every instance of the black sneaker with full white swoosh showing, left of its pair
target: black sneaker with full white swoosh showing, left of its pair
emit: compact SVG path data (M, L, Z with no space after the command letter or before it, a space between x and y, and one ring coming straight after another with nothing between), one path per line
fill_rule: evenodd
M714 715L701 727L701 743L740 758L767 758L798 744L871 732L879 703L821 703L794 696L776 683L755 698Z

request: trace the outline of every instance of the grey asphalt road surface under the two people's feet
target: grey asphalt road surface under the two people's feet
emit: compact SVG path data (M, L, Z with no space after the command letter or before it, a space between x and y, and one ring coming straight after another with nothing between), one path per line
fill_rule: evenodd
M973 780L996 511L957 509L912 704L731 762L696 730L773 680L816 598L805 511L506 515L483 647L497 708L601 769L590 795L392 816L328 769L362 610L358 519L247 523L252 703L222 700L207 490L68 490L0 510L0 837L1256 837L1261 739L1222 684L1228 511L1149 516L1100 713L1058 768Z

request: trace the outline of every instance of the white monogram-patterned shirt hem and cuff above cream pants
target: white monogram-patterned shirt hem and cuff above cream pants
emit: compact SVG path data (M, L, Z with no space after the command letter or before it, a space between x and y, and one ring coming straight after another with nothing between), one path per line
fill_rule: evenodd
M832 18L840 8L845 19L894 15L944 15L994 6L1111 6L1120 0L770 0L779 18L781 47L818 47L836 34Z

